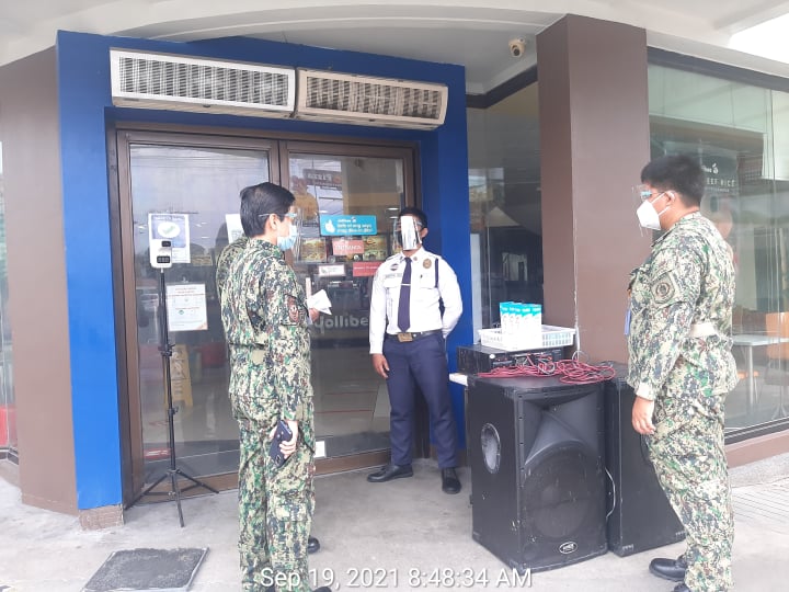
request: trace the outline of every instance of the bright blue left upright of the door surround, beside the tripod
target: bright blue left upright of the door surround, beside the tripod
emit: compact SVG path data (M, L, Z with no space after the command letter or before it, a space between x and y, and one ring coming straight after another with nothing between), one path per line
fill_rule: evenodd
M98 37L58 35L58 101L77 505L121 502L118 383L104 104Z

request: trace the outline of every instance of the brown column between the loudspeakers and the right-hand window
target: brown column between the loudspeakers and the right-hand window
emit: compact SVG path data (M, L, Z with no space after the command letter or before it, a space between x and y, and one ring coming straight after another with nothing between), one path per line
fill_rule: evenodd
M630 270L650 251L631 189L649 161L647 34L568 15L537 36L547 323L627 362Z

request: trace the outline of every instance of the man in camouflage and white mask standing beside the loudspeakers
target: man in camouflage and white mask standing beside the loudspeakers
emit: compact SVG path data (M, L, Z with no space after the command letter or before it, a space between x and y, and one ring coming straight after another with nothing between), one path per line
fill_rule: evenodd
M736 385L731 354L734 267L714 225L699 214L705 175L686 156L641 171L641 226L665 234L630 274L632 425L647 435L661 486L685 527L687 549L650 571L683 592L731 590L734 523L723 419Z

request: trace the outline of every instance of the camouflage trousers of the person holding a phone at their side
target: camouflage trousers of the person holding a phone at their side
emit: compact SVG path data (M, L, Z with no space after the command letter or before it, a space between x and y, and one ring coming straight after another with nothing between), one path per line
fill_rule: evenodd
M268 457L273 425L239 419L239 553L242 590L309 592L307 538L312 523L313 454L299 442L277 468Z

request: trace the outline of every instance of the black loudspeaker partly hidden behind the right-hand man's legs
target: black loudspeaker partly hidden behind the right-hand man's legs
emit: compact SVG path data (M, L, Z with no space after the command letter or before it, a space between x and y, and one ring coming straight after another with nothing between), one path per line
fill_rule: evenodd
M685 531L663 493L649 459L647 442L632 429L633 389L627 365L606 382L606 467L609 479L608 548L625 557L685 538Z

